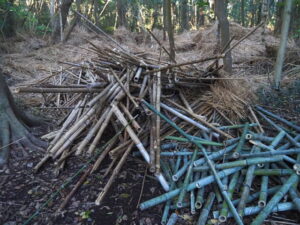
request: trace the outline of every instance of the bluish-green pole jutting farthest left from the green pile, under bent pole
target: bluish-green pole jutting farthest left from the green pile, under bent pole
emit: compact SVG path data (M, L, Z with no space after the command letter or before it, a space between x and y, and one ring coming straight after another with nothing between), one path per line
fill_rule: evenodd
M218 176L220 178L223 178L223 177L229 176L230 174L233 174L237 171L240 171L241 169L242 169L242 167L235 167L235 168L222 170L222 171L218 172ZM215 177L213 175L207 176L200 180L194 181L193 183L190 183L187 187L187 191L191 191L195 188L203 188L213 182L215 182ZM141 203L140 209L145 210L145 209L151 208L153 206L156 206L160 203L166 202L169 199L176 197L179 193L180 193L180 188L174 189L173 191L166 192L160 196L157 196L155 198L152 198L148 201Z

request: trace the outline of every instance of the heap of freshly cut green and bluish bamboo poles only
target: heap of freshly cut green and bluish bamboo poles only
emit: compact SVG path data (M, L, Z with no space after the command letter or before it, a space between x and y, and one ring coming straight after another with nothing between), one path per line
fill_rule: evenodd
M199 211L197 225L226 223L231 217L236 224L244 224L243 218L250 215L254 215L251 224L257 225L272 212L300 211L300 126L256 106L265 127L257 123L219 127L228 132L241 130L241 135L214 142L211 132L191 136L145 104L184 137L168 139L192 144L161 152L170 191L140 204L145 210L165 203L161 224L175 224L179 210L185 208L192 215ZM255 132L258 126L262 132ZM178 215L168 219L173 210Z

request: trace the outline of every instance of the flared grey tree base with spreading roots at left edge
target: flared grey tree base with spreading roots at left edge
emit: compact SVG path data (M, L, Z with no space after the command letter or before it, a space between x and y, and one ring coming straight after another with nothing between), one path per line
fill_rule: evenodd
M10 143L21 144L23 148L38 150L46 144L34 137L30 126L39 126L42 121L31 118L19 111L10 90L0 72L0 171L5 171L8 162Z

